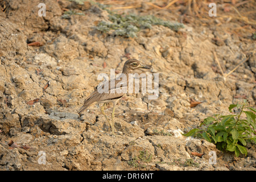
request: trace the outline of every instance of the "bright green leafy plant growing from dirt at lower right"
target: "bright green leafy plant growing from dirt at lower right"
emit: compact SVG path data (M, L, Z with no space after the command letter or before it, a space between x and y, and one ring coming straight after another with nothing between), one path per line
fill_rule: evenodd
M256 109L249 107L247 100L230 105L230 113L235 108L238 110L237 114L215 114L213 117L205 118L200 129L192 129L183 135L204 138L215 143L219 150L235 152L236 156L240 153L247 155L246 143L256 143ZM245 114L245 117L242 117L242 114Z

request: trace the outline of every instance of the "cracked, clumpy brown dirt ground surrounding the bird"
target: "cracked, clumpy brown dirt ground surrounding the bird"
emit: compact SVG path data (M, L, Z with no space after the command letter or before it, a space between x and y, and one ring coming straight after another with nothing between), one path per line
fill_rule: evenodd
M199 11L187 2L107 7L184 24L154 25L126 38L98 30L109 11L97 3L47 0L46 16L39 16L40 1L0 1L0 169L255 170L255 144L237 158L181 135L244 98L255 106L255 2L218 1L216 17L208 16L208 5ZM159 97L123 97L113 137L99 105L83 115L77 110L100 73L119 73L130 58L159 73Z

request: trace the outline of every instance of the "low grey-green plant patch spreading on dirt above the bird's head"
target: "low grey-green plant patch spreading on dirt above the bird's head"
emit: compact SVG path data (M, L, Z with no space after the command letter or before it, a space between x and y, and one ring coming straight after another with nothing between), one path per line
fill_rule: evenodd
M106 6L98 4L101 9L108 11L110 22L101 21L97 24L97 30L102 32L109 32L114 30L114 35L126 36L126 37L135 37L137 32L144 28L151 28L152 25L162 25L172 30L179 30L183 28L182 23L172 23L166 20L156 18L153 15L147 16L138 16L134 14L129 15L120 15L116 14L113 11L106 9Z

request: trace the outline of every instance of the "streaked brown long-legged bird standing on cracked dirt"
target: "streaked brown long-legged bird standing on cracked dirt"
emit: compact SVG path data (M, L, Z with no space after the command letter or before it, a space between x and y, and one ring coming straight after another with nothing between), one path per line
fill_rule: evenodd
M90 105L97 103L97 104L101 104L103 103L103 105L101 106L101 113L105 116L106 121L108 121L110 128L112 129L112 135L114 135L115 132L115 127L114 127L114 112L115 112L115 105L117 105L117 102L120 100L120 98L122 98L123 96L125 96L127 90L128 90L128 82L129 82L129 73L134 73L135 70L137 69L151 69L149 67L147 67L146 65L141 64L140 61L138 61L137 59L129 59L125 62L125 64L123 65L123 70L122 70L122 74L115 78L114 80L106 80L107 82L104 82L104 84L102 85L98 85L97 88L101 88L101 89L96 89L92 94L90 94L89 97L87 97L84 101L84 105L82 105L82 107L79 109L78 113L81 114L85 109L87 109L87 107L89 107ZM121 76L125 75L126 76L126 82L123 82L125 84L122 84L122 89L126 90L126 92L118 92L117 88L115 88L115 86L117 86L117 84L120 84L120 78ZM123 80L122 80L123 81ZM104 90L104 86L108 85L108 92L99 92ZM114 87L112 87L112 85L114 84ZM121 89L121 88L119 88ZM105 110L105 106L107 103L112 102L113 103L113 111L112 111L112 122L109 121L107 115L105 114L104 110Z

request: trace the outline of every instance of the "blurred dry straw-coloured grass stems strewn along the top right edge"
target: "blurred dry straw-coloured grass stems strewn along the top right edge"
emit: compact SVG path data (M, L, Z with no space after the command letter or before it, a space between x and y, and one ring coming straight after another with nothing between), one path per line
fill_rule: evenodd
M224 20L225 23L230 20L240 20L243 23L255 25L256 21L254 19L247 18L246 15L253 14L255 11L241 13L238 10L238 7L243 5L250 5L251 7L255 6L254 0L218 0L218 1L210 1L210 0L172 0L168 1L166 5L159 5L158 1L147 2L147 1L98 1L105 5L111 5L111 10L124 10L124 9L138 9L142 8L142 4L146 4L151 6L152 9L155 10L175 10L180 9L181 6L184 6L187 11L186 14L190 16L197 16L197 18L207 18L210 19L208 15L208 11L210 8L208 7L209 3L215 2L217 4L217 18L220 20Z

